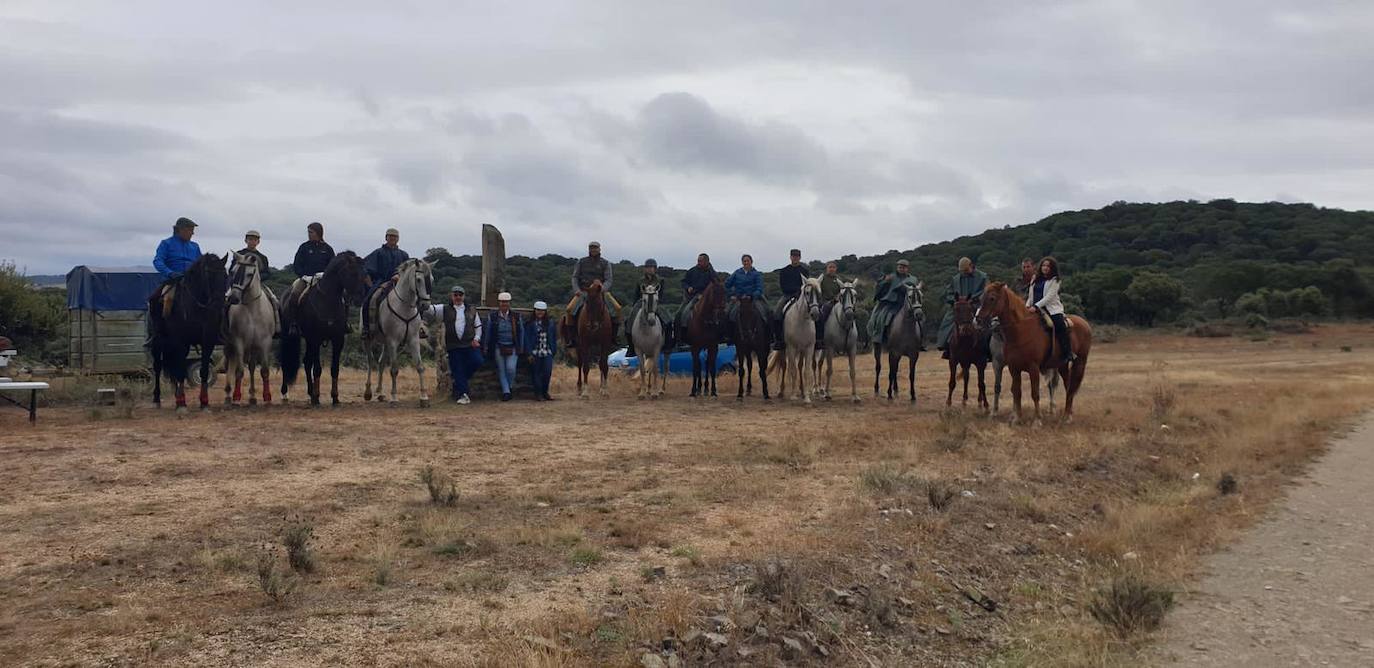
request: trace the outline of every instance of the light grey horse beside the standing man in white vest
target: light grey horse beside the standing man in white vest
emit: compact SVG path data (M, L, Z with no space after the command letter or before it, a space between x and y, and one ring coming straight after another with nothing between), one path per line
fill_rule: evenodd
M396 285L374 293L376 305L374 327L363 339L363 359L367 368L367 388L363 400L372 400L372 356L376 356L376 400L382 400L382 370L392 368L392 405L396 405L396 375L400 372L397 348L404 345L420 377L420 407L429 405L425 385L425 360L420 357L420 313L430 309L430 290L434 276L425 260L409 258L396 268ZM371 304L364 308L372 308Z

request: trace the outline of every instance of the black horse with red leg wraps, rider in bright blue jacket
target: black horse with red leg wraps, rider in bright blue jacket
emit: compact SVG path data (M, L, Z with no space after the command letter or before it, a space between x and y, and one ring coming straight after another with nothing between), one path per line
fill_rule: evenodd
M176 388L176 412L185 412L187 355L201 349L201 410L210 408L210 357L220 344L224 324L224 293L229 275L228 257L206 253L191 263L177 283L172 312L162 313L162 290L148 298L153 322L153 403L162 405L162 370Z

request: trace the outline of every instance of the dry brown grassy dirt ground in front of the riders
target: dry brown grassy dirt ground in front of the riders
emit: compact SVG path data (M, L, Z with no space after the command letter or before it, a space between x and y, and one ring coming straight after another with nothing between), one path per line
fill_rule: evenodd
M0 664L1129 665L1150 636L1098 590L1186 588L1374 405L1371 334L1098 344L1041 427L944 411L937 355L915 407L866 360L859 405L559 370L554 403L422 410L403 372L389 408L350 372L338 410L10 410Z

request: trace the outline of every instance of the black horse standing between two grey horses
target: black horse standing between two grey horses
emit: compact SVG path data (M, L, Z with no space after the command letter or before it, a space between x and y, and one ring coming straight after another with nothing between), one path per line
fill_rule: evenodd
M291 291L282 300L283 330L294 334L282 335L279 364L282 366L282 401L290 400L290 389L301 368L301 339L305 339L305 386L311 405L320 405L320 346L330 344L330 399L339 404L339 356L344 355L344 338L348 334L348 305L361 302L370 285L363 271L363 258L352 250L345 250L330 261L324 275L306 285L297 280ZM293 307L294 304L294 307Z

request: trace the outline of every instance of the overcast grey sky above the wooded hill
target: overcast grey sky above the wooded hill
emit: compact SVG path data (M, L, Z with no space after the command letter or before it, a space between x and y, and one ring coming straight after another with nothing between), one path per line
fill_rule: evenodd
M765 268L1116 199L1374 208L1374 3L0 3L0 258Z

